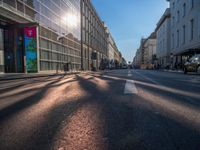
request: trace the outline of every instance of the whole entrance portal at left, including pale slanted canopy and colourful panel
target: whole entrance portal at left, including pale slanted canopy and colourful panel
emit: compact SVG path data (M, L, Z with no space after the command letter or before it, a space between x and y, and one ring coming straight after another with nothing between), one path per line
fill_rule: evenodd
M0 73L38 72L38 25L30 18L1 10Z

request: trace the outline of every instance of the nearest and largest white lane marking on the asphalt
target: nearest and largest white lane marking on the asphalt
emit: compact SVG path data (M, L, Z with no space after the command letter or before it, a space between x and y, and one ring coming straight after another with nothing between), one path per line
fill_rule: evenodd
M126 80L124 94L137 94L138 90L135 86L134 80Z

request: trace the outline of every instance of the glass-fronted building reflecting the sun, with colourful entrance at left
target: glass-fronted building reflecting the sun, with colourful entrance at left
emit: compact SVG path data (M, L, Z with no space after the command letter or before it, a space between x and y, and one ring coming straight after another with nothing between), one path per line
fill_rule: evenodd
M80 69L80 11L80 0L0 0L0 72Z

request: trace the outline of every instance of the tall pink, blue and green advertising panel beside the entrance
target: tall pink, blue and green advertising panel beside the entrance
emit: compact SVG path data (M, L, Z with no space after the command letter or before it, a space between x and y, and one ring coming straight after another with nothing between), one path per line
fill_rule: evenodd
M26 54L27 73L38 72L37 66L37 29L36 27L24 28L24 47Z

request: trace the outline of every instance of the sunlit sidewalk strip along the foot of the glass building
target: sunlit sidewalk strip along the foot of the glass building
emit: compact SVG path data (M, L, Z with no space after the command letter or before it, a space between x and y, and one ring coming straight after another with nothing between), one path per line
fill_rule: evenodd
M72 74L78 74L81 73L81 71L70 71L66 74L64 72L40 72L40 73L5 73L0 74L0 81L3 80L16 80L16 79L28 79L28 78L38 78L38 77L49 77L49 76L56 76L56 75L72 75Z

